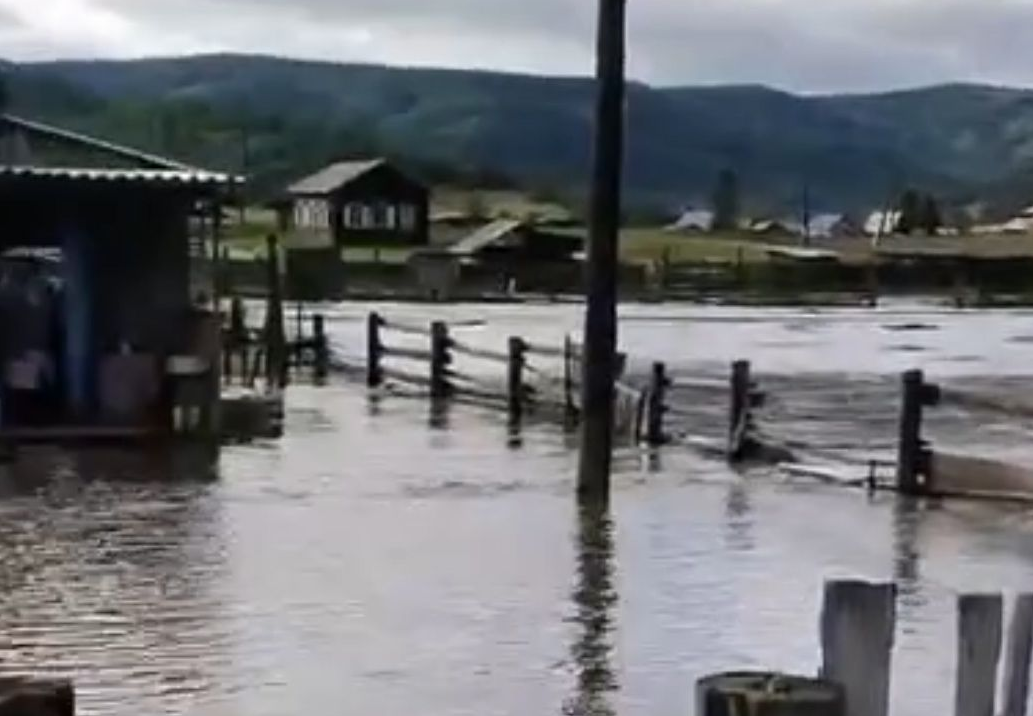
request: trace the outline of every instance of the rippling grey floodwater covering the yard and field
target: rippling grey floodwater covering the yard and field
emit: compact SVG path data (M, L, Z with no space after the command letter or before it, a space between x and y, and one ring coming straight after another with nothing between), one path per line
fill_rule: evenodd
M339 353L362 355L370 308L327 309ZM580 315L377 308L496 350L558 345ZM632 377L662 359L682 383L680 436L720 436L715 384L748 357L761 427L846 471L891 445L902 370L1033 394L1029 312L635 306L622 343ZM930 413L935 441L1015 460L1029 427ZM689 714L705 674L813 673L822 582L851 577L901 586L894 711L918 716L951 702L957 595L1033 588L1028 506L869 497L678 443L622 448L611 511L578 511L558 426L514 433L484 407L345 379L292 387L282 440L227 448L215 471L191 458L6 468L0 672L71 677L82 713L104 716Z

